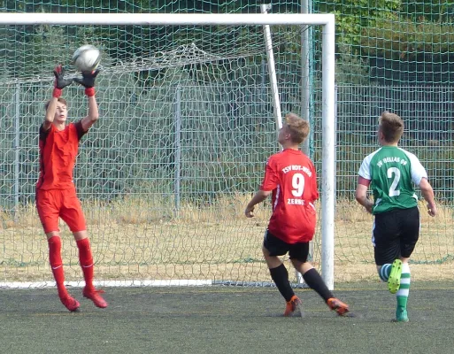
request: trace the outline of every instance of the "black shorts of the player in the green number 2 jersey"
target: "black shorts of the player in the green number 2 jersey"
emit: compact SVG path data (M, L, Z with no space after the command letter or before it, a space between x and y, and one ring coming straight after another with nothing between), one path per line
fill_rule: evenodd
M418 207L376 214L372 237L375 264L383 266L396 258L409 258L418 239Z

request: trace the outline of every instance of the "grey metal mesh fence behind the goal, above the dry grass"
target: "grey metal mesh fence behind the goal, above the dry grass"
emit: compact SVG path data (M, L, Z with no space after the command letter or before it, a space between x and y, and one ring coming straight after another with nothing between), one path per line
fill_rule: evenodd
M299 88L282 86L282 112L300 109ZM402 146L427 165L435 189L450 199L454 88L340 86L337 89L337 191L351 197L361 159L376 149L384 110L405 121ZM81 89L65 89L70 120L86 114ZM38 128L49 83L0 88L0 204L34 200ZM315 96L314 96L315 97ZM159 194L210 200L257 189L268 155L278 149L265 85L181 85L140 90L129 83L97 94L101 119L83 138L75 168L82 199ZM319 165L319 100L314 98L312 158Z

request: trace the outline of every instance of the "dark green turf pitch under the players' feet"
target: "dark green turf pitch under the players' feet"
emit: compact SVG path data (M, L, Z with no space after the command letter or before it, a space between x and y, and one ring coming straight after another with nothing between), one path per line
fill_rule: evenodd
M284 318L274 288L107 288L101 310L81 297L70 313L55 289L2 289L3 353L452 353L454 310L446 283L414 281L409 323L393 323L383 283L336 284L353 318L296 289L304 317Z

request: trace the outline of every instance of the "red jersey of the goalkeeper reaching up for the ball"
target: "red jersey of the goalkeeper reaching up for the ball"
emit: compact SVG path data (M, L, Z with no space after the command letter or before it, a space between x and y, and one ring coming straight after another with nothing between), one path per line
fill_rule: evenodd
M44 131L40 127L40 176L36 189L72 189L73 169L79 142L86 132L81 121L58 130L53 124Z

